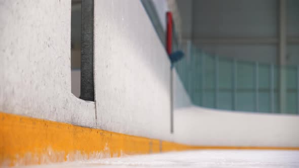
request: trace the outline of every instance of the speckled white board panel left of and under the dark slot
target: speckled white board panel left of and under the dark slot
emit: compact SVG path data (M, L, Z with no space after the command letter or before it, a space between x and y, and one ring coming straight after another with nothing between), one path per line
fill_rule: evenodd
M71 94L71 1L0 2L0 111L95 127Z

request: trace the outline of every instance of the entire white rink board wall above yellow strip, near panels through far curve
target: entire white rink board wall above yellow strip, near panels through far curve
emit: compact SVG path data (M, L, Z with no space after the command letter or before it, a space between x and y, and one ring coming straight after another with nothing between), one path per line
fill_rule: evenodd
M137 0L94 2L95 102L76 98L70 8L0 3L0 111L192 145L299 146L298 116L190 106L176 73L170 134L170 62Z

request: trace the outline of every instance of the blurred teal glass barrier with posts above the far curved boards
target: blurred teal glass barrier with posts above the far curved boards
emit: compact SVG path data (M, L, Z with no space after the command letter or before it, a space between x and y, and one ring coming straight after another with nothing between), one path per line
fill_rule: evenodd
M251 112L299 113L299 66L245 62L191 47L175 68L195 105ZM285 75L281 87L280 73ZM281 92L283 89L283 92ZM281 111L280 94L285 94Z

